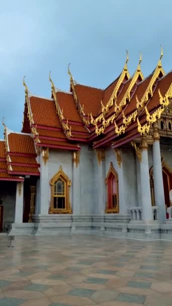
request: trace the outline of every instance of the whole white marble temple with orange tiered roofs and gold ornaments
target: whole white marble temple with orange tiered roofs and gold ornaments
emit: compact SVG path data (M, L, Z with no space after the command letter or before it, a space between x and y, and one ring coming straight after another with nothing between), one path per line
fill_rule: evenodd
M128 53L106 89L49 75L50 98L29 92L21 132L0 140L0 232L88 233L172 240L172 71L148 77Z

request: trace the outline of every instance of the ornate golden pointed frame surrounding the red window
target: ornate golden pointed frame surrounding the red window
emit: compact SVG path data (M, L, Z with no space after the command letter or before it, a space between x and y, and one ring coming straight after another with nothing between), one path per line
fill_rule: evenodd
M117 183L117 207L116 208L109 208L108 205L108 179L110 174L113 174L115 177L115 181ZM106 209L105 209L105 213L119 213L119 186L118 186L118 173L116 172L116 170L114 169L113 163L110 162L110 167L109 167L109 171L107 174L107 177L105 179L105 184L107 185L107 202L106 202Z

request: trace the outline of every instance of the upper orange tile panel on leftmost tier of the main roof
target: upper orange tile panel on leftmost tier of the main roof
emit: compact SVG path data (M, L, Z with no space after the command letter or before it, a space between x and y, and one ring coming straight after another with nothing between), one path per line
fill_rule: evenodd
M32 96L30 105L35 124L61 128L53 100Z

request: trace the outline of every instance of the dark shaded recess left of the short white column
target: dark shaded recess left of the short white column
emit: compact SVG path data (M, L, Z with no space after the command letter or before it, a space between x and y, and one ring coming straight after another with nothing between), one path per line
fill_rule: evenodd
M0 182L0 200L4 206L3 227L15 220L16 182Z

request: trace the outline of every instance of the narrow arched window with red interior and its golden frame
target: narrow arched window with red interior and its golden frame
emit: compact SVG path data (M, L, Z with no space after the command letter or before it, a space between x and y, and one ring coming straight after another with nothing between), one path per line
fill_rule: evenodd
M105 182L107 185L107 204L105 212L119 213L118 174L112 162Z

